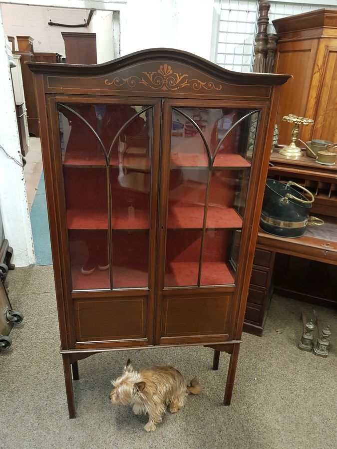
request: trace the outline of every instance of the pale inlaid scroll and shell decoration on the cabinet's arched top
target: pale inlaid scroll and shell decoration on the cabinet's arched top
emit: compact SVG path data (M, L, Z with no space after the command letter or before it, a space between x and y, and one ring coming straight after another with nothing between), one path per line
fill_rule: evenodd
M168 64L163 64L156 72L142 72L144 76L131 75L127 78L119 78L116 76L112 81L105 79L107 86L114 85L121 87L127 84L129 87L135 87L136 84L143 84L153 90L178 90L183 87L192 87L193 90L221 90L222 85L216 86L213 81L201 81L200 79L188 79L187 73L173 72L172 67Z

